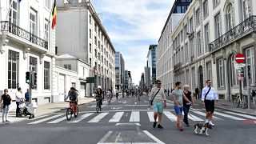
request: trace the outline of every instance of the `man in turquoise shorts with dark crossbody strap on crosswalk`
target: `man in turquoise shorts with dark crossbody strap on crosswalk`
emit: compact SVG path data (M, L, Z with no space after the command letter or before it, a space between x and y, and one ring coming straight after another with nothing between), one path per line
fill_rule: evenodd
M165 91L161 87L161 81L156 80L156 87L154 87L151 90L150 93L150 103L149 107L151 107L151 104L153 104L154 107L154 123L153 127L157 126L157 118L158 118L158 128L163 129L161 126L161 121L162 121L162 113L163 113L163 107L166 108L166 95Z

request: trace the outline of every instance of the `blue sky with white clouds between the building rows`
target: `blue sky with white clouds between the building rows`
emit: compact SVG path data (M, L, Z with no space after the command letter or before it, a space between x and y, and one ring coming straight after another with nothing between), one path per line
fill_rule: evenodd
M138 84L150 44L158 44L174 0L92 0L116 51Z

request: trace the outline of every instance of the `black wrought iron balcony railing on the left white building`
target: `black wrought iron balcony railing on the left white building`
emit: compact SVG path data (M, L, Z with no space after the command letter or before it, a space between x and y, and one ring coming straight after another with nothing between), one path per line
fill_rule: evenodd
M27 41L32 42L48 50L48 42L46 42L42 38L38 38L34 34L31 34L30 32L22 29L19 26L16 26L13 23L8 21L1 21L0 26L1 26L1 31L7 31L11 34L17 35L20 38L26 39Z

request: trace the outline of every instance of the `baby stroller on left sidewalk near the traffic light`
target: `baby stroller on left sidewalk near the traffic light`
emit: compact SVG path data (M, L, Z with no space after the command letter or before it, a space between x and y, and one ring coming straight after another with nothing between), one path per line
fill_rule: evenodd
M21 102L19 102L18 107L20 108L18 112L18 117L22 117L22 115L30 115L29 118L31 119L34 118L34 111L37 109L38 106L34 102L26 106L25 100L22 100Z

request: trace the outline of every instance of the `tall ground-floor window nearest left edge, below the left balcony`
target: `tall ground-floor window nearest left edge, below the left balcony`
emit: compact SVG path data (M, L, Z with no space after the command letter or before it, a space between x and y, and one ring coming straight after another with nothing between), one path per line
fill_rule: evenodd
M8 89L16 89L18 83L19 54L16 51L8 52Z

